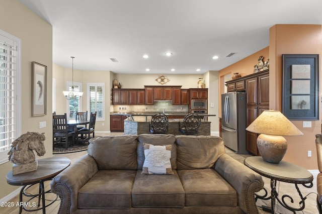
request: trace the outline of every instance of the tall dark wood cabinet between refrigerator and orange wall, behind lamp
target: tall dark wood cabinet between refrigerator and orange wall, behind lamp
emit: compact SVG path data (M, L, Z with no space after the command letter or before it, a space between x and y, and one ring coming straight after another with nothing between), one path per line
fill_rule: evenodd
M251 125L263 111L269 110L269 73L268 71L246 79L246 127ZM246 150L260 155L257 148L258 134L246 132Z

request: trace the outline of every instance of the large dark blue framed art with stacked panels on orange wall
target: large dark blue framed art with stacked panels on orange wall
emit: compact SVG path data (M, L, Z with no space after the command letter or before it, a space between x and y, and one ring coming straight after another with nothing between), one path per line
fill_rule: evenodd
M318 120L318 54L283 54L282 111L289 120Z

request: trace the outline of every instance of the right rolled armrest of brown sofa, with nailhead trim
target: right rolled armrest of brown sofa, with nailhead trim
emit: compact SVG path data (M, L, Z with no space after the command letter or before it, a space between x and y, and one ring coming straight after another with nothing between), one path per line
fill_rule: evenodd
M255 192L264 188L262 176L227 154L218 158L214 169L237 191L240 208L246 213L258 213Z

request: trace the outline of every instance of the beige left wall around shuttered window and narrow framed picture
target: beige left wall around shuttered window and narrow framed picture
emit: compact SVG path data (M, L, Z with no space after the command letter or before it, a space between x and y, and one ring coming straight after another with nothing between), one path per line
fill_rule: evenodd
M38 159L52 157L52 26L22 5L18 0L0 0L0 29L21 39L21 97L22 133L45 133L46 154ZM31 62L47 66L47 115L31 117ZM46 128L39 129L39 122L46 121ZM6 174L12 163L0 165L0 198L19 188L7 184Z

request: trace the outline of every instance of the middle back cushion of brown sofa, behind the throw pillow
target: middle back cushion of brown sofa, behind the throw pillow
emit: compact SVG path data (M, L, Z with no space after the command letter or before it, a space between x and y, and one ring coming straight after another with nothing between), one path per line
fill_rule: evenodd
M166 146L172 145L171 150L171 167L172 169L177 169L177 147L176 147L176 137L174 135L151 135L142 134L138 136L137 144L137 168L142 169L145 160L143 143L152 144L154 146Z

